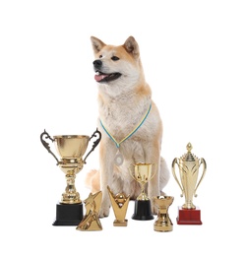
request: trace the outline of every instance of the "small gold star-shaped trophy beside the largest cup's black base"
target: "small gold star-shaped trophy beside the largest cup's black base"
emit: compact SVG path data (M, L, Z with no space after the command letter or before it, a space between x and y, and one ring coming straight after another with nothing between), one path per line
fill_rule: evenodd
M98 212L101 205L101 191L94 194L90 193L89 197L84 201L86 206L86 216L82 222L76 227L80 231L96 231L102 230Z

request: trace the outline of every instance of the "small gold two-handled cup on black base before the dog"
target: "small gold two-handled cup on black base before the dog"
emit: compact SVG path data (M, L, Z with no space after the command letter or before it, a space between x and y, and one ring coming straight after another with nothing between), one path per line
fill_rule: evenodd
M137 197L137 200L135 200L134 214L132 216L133 220L149 221L154 219L151 208L151 200L145 193L146 183L148 183L154 177L155 174L152 173L153 164L154 163L143 162L135 163L133 165L134 173L133 169L130 168L131 176L141 185L141 193Z

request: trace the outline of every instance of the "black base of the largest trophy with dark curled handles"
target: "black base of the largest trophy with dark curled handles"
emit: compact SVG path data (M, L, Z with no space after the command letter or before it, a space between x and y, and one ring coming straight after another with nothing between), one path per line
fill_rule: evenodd
M83 204L56 204L56 221L53 225L78 225L83 219Z

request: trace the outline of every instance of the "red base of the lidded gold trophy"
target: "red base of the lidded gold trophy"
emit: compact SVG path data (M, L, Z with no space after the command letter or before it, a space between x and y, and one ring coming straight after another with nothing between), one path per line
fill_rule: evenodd
M183 209L178 207L177 224L203 224L201 222L201 210L196 209Z

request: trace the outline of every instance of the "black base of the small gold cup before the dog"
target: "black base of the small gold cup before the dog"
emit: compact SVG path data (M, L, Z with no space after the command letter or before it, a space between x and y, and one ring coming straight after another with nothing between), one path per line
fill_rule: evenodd
M154 216L152 214L151 200L136 200L132 219L137 221L154 220Z

